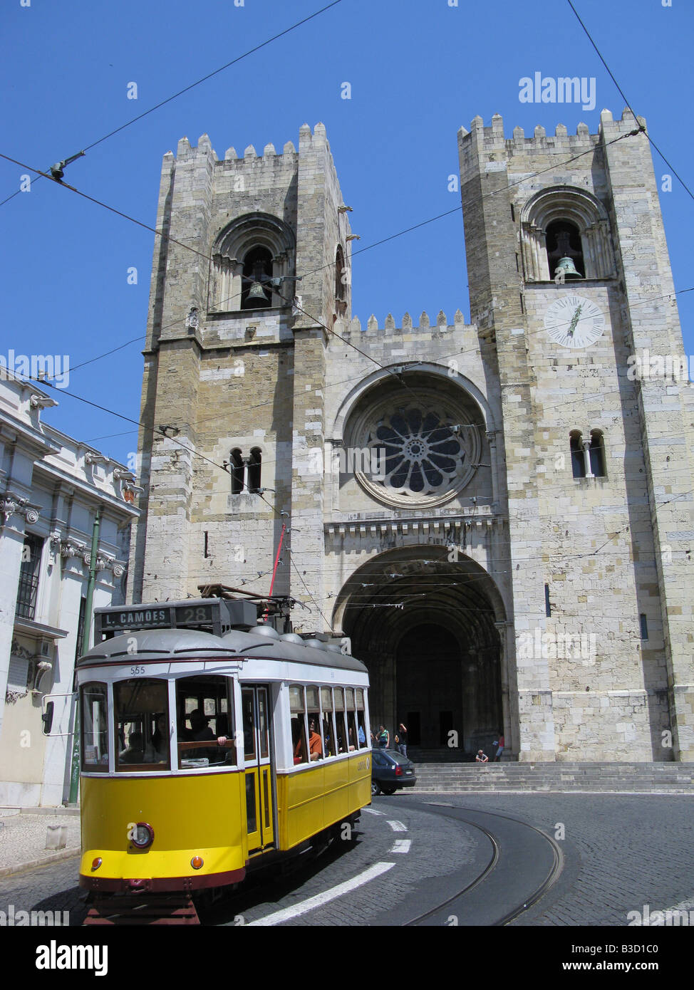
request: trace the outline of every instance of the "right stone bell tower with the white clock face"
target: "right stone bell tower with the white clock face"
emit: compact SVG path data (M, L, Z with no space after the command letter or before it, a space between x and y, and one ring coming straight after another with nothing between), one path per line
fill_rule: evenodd
M694 758L692 392L644 358L683 352L644 128L626 110L595 135L459 133L520 759Z

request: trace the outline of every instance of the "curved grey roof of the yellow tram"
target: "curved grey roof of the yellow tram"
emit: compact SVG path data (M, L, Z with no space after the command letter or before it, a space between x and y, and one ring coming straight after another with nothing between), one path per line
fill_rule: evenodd
M133 651L133 640L136 650ZM139 659L163 659L183 657L199 659L249 659L261 656L263 659L308 663L320 667L334 667L340 670L358 670L366 673L366 666L353 656L319 649L317 646L303 646L272 640L266 636L254 636L241 630L232 630L223 637L213 636L200 630L156 629L142 630L114 636L103 643L97 643L77 660L77 666L95 660L104 663L123 663L124 657ZM126 661L127 662L127 661Z

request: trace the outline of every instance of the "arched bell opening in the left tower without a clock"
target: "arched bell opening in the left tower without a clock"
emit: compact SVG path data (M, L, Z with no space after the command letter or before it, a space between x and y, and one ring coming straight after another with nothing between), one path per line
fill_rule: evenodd
M247 213L233 220L212 248L208 309L233 313L243 309L291 306L292 282L269 283L270 278L294 274L295 239L290 227L267 213ZM262 286L253 301L253 282ZM257 292L257 290L256 290ZM255 305L255 303L257 305Z

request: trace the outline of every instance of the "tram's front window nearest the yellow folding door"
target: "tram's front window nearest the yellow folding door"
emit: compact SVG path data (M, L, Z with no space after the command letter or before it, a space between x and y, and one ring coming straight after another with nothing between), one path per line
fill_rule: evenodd
M181 770L236 766L232 684L230 677L217 674L196 674L176 681Z

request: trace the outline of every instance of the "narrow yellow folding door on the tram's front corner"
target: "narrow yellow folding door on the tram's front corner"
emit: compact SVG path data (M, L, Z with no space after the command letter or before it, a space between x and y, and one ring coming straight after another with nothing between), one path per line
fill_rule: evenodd
M268 690L242 686L248 854L274 844Z

